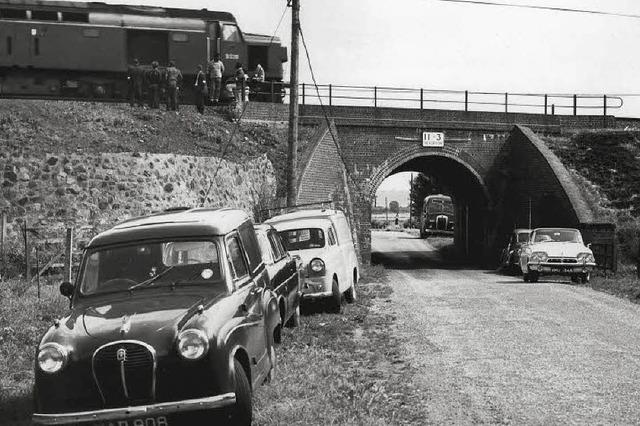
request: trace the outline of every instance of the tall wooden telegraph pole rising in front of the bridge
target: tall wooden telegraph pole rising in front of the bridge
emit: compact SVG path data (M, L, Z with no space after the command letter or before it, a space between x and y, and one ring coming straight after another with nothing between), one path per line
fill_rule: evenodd
M298 189L298 50L300 43L300 0L291 5L291 77L289 88L289 152L287 156L287 206L296 204Z

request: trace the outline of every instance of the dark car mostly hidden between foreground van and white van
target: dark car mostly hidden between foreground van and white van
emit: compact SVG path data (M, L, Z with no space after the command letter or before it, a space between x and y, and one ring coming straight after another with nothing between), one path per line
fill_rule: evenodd
M293 257L284 248L276 228L262 224L253 227L262 252L262 261L267 267L269 288L278 300L281 324L287 327L300 325L301 260ZM275 333L275 342L281 341L281 330Z

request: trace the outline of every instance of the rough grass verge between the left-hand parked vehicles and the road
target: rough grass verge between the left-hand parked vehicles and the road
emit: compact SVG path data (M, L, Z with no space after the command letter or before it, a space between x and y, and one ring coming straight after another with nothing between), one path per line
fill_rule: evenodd
M344 314L304 315L299 329L286 331L277 379L255 394L256 424L420 423L395 318L380 309L391 287L382 267L363 275Z

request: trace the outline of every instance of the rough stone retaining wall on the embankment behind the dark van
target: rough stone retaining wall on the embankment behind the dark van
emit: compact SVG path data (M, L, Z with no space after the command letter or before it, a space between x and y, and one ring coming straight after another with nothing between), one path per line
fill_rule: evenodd
M218 170L217 170L218 169ZM217 170L217 174L216 174ZM244 164L175 154L0 154L0 211L8 218L6 250L60 244L65 228L89 238L116 222L176 206L233 207L250 215L275 197L266 157ZM215 178L214 178L215 175Z

